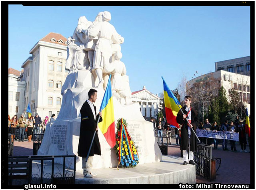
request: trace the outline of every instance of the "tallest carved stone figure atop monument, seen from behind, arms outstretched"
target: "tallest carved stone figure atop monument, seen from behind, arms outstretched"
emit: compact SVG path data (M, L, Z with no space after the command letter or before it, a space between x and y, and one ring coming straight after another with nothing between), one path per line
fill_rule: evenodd
M111 43L120 44L122 43L122 38L116 32L116 29L112 24L109 23L111 20L111 14L108 11L103 12L102 21L96 24L93 28L88 28L86 30L81 29L80 31L86 34L89 38L95 38L98 36L98 41L95 46L94 58L92 70L96 70L96 75L99 78L98 87L102 87L104 80L102 77L103 61L101 59L101 52L104 52L108 62L112 61L112 49ZM79 32L80 32L79 31ZM112 42L111 42L112 40Z

